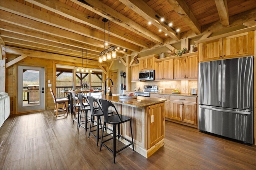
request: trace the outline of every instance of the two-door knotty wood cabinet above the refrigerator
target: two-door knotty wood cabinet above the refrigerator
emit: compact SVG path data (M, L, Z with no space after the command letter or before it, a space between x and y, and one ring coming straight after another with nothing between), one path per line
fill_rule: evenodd
M254 31L199 43L199 62L254 55Z

